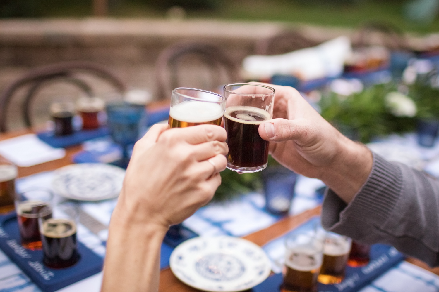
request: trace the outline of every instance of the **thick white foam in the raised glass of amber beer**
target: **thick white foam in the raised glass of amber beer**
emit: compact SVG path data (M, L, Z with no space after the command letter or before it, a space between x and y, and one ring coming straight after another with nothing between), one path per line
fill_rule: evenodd
M205 123L223 116L223 108L215 102L188 100L171 106L169 116L187 123Z

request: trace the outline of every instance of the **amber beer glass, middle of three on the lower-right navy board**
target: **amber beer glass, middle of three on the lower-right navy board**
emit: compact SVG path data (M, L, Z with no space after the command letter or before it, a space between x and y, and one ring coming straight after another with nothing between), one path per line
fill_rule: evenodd
M345 268L351 251L352 240L349 237L327 232L323 247L323 264L319 282L338 284L345 278Z

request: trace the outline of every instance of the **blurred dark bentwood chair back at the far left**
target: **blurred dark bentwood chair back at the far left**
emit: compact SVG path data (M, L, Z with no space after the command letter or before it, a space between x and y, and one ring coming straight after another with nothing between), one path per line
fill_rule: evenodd
M0 94L0 132L6 132L8 130L7 124L7 111L11 99L15 93L22 89L27 88L25 98L22 103L22 116L24 123L27 127L32 126L30 106L32 100L35 99L38 91L44 86L52 84L54 82L67 82L75 85L87 96L94 96L92 87L83 79L78 77L78 73L84 72L87 74L100 77L107 81L116 91L123 94L126 91L126 84L119 79L111 70L107 67L83 61L73 62L61 62L50 65L37 67L29 70L18 80L12 82L5 88Z

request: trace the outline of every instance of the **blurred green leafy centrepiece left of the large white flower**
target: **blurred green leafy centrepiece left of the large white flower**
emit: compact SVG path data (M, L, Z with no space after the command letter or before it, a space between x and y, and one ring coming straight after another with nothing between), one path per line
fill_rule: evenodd
M400 118L389 113L385 96L390 91L395 91L392 84L379 84L349 97L330 93L320 101L322 116L339 130L351 128L363 143L370 142L375 136L414 130L413 118Z

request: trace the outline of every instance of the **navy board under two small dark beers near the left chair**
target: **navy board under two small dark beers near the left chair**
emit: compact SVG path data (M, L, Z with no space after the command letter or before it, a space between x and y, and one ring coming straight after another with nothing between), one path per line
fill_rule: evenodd
M46 142L55 148L65 148L72 145L81 144L84 141L94 139L97 137L103 137L108 135L107 127L100 127L96 130L80 130L75 131L71 135L54 136L51 131L44 131L36 134L40 140Z

